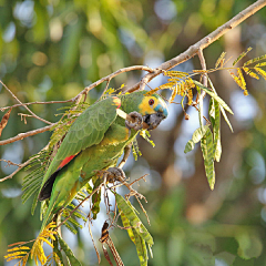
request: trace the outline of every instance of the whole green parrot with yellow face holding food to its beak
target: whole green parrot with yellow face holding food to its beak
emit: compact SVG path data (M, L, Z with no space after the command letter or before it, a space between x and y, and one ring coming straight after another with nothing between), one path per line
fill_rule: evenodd
M135 122L121 117L119 110ZM141 129L155 129L167 114L166 103L158 94L140 91L106 98L78 116L42 181L39 201L50 202L41 232L99 171L124 175L115 167L124 149Z

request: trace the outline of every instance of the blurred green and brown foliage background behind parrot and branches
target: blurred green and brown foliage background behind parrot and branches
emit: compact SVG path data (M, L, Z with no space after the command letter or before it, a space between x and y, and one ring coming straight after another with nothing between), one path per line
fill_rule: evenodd
M69 100L84 86L121 68L146 64L155 68L225 23L252 0L0 0L0 79L22 101ZM255 58L266 53L266 9L204 50L207 68L213 68L223 51L232 62L248 47ZM197 58L177 68L200 69ZM110 86L130 86L142 72L121 74ZM244 96L226 71L211 79L235 112L232 133L222 121L223 154L216 164L216 185L209 191L200 149L184 154L185 143L198 127L197 113L187 110L185 121L180 105L170 106L170 117L152 132L153 149L140 140L143 156L131 157L127 176L150 173L137 190L149 203L144 205L154 236L154 258L149 265L253 266L266 265L266 83L248 80L249 96ZM155 88L163 76L150 83ZM90 92L93 102L105 84ZM176 102L181 99L176 98ZM0 86L0 108L14 104ZM68 104L31 105L38 115L55 122L59 108ZM44 126L34 119L27 124L13 109L1 140L20 132ZM3 115L4 113L1 113ZM0 147L1 158L21 163L39 152L49 141L45 132ZM0 177L16 166L0 162ZM24 172L0 183L0 265L7 245L30 241L40 229L39 213L30 214L31 202L21 203ZM135 206L137 206L135 204ZM101 222L93 226L99 245ZM142 215L145 222L145 216ZM98 265L88 227L78 236L63 236L83 265ZM125 231L111 231L126 266L139 258ZM33 265L30 264L29 265ZM108 265L102 256L101 265Z

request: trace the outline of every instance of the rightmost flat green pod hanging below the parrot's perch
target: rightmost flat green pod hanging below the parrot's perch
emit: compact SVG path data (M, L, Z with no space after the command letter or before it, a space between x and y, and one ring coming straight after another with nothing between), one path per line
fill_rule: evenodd
M153 238L147 232L146 227L142 224L141 219L135 214L131 203L124 200L120 194L115 193L115 201L117 207L124 213L125 217L130 221L136 233L150 245L153 245Z

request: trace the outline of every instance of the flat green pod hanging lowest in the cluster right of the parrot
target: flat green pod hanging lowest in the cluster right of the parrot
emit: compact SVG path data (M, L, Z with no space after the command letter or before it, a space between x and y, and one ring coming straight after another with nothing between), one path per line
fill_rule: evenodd
M213 134L209 129L207 129L206 134L201 140L201 147L202 147L207 181L211 190L213 191L214 184L215 184L214 145L213 145Z

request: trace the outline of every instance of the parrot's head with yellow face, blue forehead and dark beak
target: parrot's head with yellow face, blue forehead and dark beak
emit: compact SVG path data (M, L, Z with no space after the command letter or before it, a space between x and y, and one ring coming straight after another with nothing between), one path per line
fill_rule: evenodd
M156 93L150 95L147 91L140 91L127 94L125 98L127 98L127 103L123 104L122 101L122 105L126 106L124 111L139 112L143 117L143 129L145 130L156 129L168 115L165 101Z

